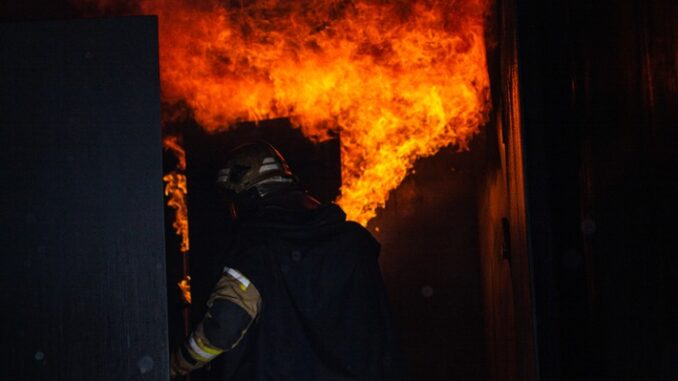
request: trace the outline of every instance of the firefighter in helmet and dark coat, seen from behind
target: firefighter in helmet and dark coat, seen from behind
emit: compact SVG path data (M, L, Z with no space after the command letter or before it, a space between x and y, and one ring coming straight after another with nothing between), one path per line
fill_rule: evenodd
M372 235L308 195L265 142L233 150L217 185L235 242L172 375L218 359L220 380L402 379Z

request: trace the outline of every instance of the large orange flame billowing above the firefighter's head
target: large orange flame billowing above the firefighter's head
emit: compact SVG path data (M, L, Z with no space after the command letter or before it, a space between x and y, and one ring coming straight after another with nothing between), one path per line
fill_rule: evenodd
M363 224L414 161L464 148L489 110L487 1L145 0L163 94L208 131L290 117L341 135L338 203Z

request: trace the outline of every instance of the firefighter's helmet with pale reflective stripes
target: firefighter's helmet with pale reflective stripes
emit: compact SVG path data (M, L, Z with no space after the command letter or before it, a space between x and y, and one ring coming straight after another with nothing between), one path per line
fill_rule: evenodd
M294 182L296 178L285 158L272 145L263 141L234 148L226 164L217 173L217 185L235 194L253 188L263 189L264 184Z

